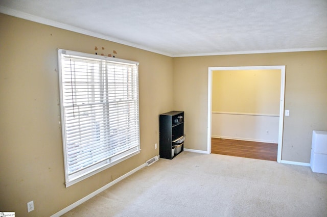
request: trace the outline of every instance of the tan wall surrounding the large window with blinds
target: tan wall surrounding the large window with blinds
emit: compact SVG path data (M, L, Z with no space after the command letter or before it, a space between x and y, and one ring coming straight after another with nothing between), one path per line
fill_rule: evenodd
M139 62L142 151L65 188L57 48L94 53L95 46ZM0 211L49 216L159 154L158 115L173 110L172 58L4 14L0 57Z

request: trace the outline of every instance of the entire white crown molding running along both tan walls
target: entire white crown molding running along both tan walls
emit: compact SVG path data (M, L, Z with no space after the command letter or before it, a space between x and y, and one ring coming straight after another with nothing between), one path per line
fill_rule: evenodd
M0 6L0 13L18 17L21 19L30 20L30 21L37 22L37 23L42 23L45 25L54 26L56 28L60 28L63 30L81 33L84 35L93 36L93 37L97 37L100 39L104 39L104 40L124 44L127 46L147 50L147 51L158 53L158 54L165 55L168 57L199 57L199 56L219 56L219 55L240 55L240 54L252 54L252 53L279 53L279 52L301 52L301 51L327 50L327 47L312 47L312 48L293 48L293 49L290 48L290 49L275 49L275 50L247 50L247 51L209 52L209 53L181 53L181 54L173 55L172 53L156 50L156 49L144 46L144 45L139 45L139 44L131 43L131 42L124 41L124 40L121 40L118 38L109 37L109 36L102 35L99 33L91 32L88 30L77 28L76 26L67 25L64 23L50 20L50 19L45 19L42 17L38 17L38 16L35 16L32 14L25 13L25 12L13 10L11 8L7 8L4 6Z

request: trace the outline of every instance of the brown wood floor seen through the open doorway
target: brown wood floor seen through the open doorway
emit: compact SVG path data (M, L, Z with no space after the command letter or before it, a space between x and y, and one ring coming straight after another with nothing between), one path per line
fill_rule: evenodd
M211 139L211 153L277 161L277 147L274 143L249 142L241 140Z

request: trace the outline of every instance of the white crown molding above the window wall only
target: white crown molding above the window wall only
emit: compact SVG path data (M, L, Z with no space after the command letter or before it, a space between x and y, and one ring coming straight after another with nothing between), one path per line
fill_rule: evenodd
M25 12L16 11L16 10L13 10L13 9L10 9L10 8L4 7L4 6L0 6L0 13L7 14L7 15L10 15L10 16L14 16L14 17L18 17L18 18L21 18L21 19L30 20L30 21L45 24L45 25L54 26L56 28L60 28L60 29L63 29L63 30L68 30L68 31L72 31L72 32L76 32L76 33L80 33L80 34L93 36L93 37L96 37L96 38L100 38L100 39L104 39L104 40L124 44L124 45L127 45L127 46L147 50L147 51L150 51L150 52L159 53L161 55L165 55L165 56L168 56L168 57L172 57L171 53L163 52L163 51L152 49L152 48L149 48L149 47L146 47L146 46L143 46L143 45L139 45L139 44L131 43L131 42L128 42L128 41L124 41L124 40L121 40L121 39L118 39L118 38L109 37L109 36L102 35L102 34L99 34L99 33L91 32L91 31L88 31L88 30L85 30L85 29L78 28L78 27L73 26L73 25L67 25L67 24L64 24L64 23L61 23L61 22L53 21L53 20L50 20L50 19L45 19L45 18L42 18L42 17L38 17L38 16L35 16L35 15L32 15L32 14L25 13Z

